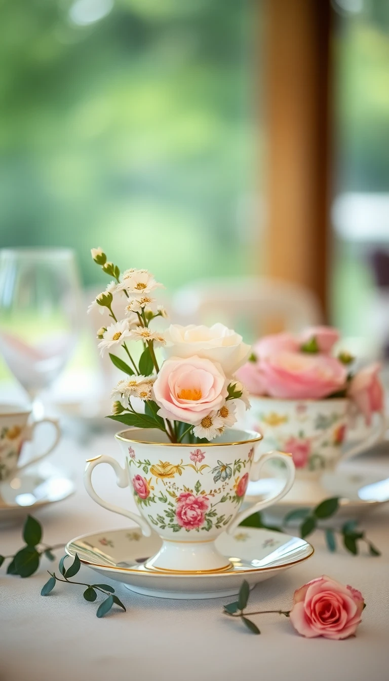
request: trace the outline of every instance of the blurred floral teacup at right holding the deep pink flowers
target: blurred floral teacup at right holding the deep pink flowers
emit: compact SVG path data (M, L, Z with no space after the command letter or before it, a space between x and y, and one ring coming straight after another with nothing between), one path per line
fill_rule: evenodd
M296 466L296 480L318 479L333 471L340 460L356 456L382 439L384 418L369 428L356 445L344 449L350 426L349 399L281 400L250 398L247 426L262 432L262 446L290 452Z

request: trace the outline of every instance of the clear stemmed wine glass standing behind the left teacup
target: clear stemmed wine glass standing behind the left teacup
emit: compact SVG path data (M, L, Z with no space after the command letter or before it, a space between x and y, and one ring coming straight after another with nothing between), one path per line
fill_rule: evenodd
M37 395L61 373L76 345L79 303L73 251L0 250L0 352L36 416L42 412Z

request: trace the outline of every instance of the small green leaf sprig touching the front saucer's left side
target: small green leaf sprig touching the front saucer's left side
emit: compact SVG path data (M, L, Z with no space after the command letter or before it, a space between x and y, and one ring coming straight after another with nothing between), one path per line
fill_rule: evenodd
M64 561L66 558L69 558L69 556L63 556L59 561L58 566L63 579L61 579L61 577L57 577L55 572L50 572L50 570L48 570L50 580L48 580L48 582L46 582L46 584L42 586L41 590L42 596L48 596L52 592L57 582L64 582L64 584L78 584L79 586L87 587L82 594L85 601L94 603L94 601L97 599L97 591L101 592L107 597L105 601L102 601L102 603L100 603L99 607L97 608L96 612L97 617L103 617L104 615L106 615L107 612L110 611L110 609L115 603L125 611L125 606L115 595L115 590L112 586L110 586L110 584L87 584L87 582L74 581L71 582L69 580L69 577L74 577L74 575L76 575L80 570L81 567L80 558L78 558L78 555L76 554L74 556L74 561L72 565L70 565L67 569L65 568L64 565Z

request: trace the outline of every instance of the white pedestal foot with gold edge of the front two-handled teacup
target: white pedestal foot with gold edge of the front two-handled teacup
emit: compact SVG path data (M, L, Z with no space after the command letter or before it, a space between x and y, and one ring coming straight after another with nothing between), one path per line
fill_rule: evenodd
M211 573L232 569L232 564L216 548L215 541L164 540L159 552L147 560L149 570L172 573Z

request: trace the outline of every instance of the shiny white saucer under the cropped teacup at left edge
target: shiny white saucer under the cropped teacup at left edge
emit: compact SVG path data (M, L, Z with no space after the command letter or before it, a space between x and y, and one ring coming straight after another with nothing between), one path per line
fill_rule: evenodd
M0 482L0 525L61 501L73 494L75 489L67 473L50 462L31 465L25 471Z

